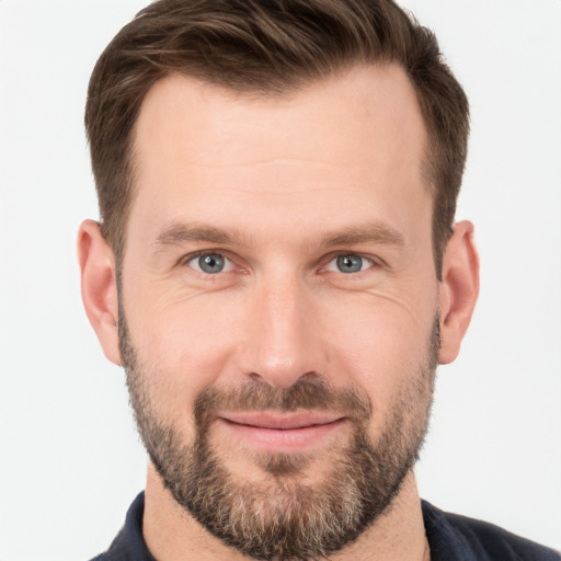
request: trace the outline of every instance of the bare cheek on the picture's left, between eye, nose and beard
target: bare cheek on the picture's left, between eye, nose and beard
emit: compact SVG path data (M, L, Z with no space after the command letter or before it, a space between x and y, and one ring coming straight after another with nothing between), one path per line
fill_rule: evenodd
M236 348L236 299L226 293L208 298L152 285L131 287L127 301L131 342L141 364L157 373L158 391L171 401L192 403L216 381Z

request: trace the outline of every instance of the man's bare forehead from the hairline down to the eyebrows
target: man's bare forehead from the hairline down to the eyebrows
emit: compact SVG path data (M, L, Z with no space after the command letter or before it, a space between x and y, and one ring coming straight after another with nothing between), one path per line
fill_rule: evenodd
M229 205L217 210L222 220L236 205L271 220L364 206L373 194L399 209L428 193L424 123L394 65L355 67L275 98L169 76L149 91L135 133L131 214L146 226L204 214L209 203Z

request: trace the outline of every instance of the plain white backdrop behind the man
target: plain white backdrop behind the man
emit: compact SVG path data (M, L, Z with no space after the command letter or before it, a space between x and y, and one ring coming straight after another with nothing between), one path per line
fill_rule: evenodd
M458 219L481 297L439 369L421 494L561 549L561 1L403 0L471 100ZM0 561L104 550L144 488L124 374L82 310L98 218L82 114L93 65L144 5L0 0Z

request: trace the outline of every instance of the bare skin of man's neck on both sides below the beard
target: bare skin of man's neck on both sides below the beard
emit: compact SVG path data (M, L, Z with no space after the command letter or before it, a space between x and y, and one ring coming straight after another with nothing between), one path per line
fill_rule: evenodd
M247 561L247 557L210 535L172 497L151 465L145 491L142 533L159 561ZM188 552L191 557L186 558ZM390 507L331 561L428 561L421 501L411 471Z

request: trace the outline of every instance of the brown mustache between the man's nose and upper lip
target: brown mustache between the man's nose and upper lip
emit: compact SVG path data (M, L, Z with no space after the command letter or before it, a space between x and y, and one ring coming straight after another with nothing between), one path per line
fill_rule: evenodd
M288 388L265 382L249 381L240 387L207 387L194 403L195 425L207 426L220 411L279 411L314 410L341 412L357 422L366 422L373 408L368 397L355 389L335 389L322 379L299 379Z

